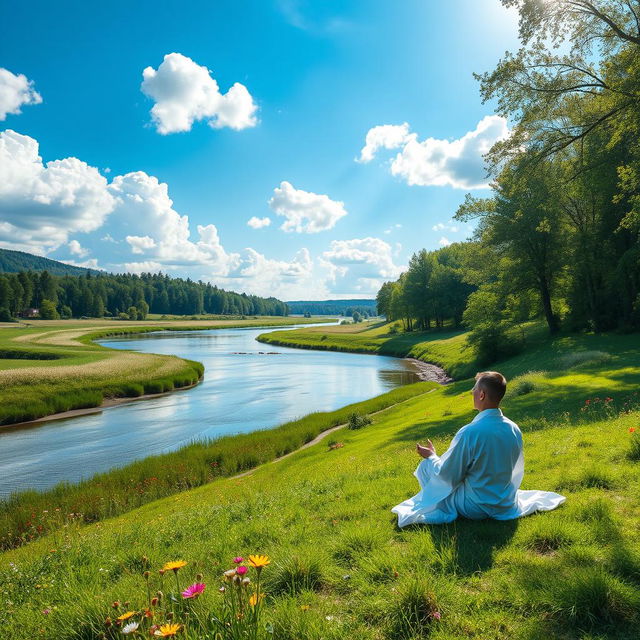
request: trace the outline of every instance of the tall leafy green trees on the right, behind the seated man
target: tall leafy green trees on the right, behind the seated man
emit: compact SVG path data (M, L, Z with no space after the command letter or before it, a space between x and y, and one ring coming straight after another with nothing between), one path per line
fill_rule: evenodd
M511 135L486 156L492 197L456 212L477 227L455 249L455 286L437 275L448 247L378 293L405 328L462 322L487 359L534 317L551 334L640 329L640 2L502 3L522 47L477 78Z

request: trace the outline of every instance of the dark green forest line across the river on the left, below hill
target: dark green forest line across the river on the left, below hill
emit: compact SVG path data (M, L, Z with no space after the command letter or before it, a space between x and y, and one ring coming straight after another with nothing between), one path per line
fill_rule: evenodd
M225 291L215 285L161 273L54 276L48 271L0 274L0 318L37 309L40 317L114 316L142 320L147 313L285 316L287 305Z

